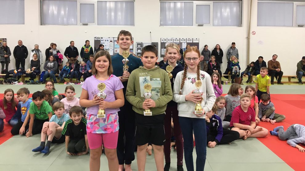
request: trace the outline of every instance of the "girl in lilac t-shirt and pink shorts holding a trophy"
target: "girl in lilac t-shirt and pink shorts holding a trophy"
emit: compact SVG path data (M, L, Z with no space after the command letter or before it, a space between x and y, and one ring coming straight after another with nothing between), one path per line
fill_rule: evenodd
M92 63L92 76L82 85L79 104L87 107L87 137L90 148L90 170L100 169L102 144L108 159L109 170L119 170L116 145L119 134L118 111L124 105L123 84L112 75L112 62L105 50L95 54ZM104 83L107 97L103 100L96 96L98 84ZM105 118L97 118L99 109L105 110ZM108 156L112 156L109 158Z

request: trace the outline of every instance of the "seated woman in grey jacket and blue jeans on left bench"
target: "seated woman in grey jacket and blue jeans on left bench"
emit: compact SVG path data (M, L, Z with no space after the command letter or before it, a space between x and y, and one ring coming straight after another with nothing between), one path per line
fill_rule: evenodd
M45 73L43 75L43 84L46 82L46 79L50 76L50 78L53 79L54 83L57 83L55 74L57 70L57 62L55 61L55 58L51 55L48 59L48 61L44 64L43 69L45 70Z

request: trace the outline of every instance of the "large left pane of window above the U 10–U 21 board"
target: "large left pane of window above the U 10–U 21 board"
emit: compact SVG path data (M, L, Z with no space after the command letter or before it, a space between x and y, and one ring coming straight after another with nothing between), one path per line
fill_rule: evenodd
M193 26L193 2L160 2L161 26Z

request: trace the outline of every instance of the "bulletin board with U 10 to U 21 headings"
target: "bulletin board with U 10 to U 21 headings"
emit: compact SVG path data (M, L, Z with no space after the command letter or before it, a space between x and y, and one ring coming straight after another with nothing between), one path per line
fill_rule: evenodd
M166 45L169 43L179 44L180 48L183 50L185 49L186 45L197 46L199 48L199 38L161 38L161 58L164 57Z

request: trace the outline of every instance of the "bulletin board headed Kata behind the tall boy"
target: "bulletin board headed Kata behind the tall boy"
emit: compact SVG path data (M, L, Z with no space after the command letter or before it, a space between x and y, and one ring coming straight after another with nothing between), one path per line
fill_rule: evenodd
M119 53L119 45L116 44L117 37L100 37L100 36L95 36L94 37L94 48L98 49L100 48L100 44L104 45L104 50L107 50L109 54L115 55ZM132 38L133 40L133 38ZM133 54L133 44L130 46L129 52Z

